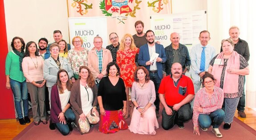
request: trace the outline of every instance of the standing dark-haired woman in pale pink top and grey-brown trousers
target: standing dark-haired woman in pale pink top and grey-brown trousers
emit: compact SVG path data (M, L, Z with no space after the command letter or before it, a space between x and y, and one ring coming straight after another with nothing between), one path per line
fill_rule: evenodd
M26 44L26 51L22 61L22 69L26 77L28 92L31 97L34 124L40 121L47 124L45 111L45 82L43 67L44 60L38 54L39 49L34 41Z

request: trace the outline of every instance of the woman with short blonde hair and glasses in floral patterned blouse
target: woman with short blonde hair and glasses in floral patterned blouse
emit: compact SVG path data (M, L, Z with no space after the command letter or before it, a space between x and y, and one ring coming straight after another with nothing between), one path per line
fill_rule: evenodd
M75 36L72 39L72 44L75 48L70 49L68 52L68 62L74 72L71 78L72 82L75 82L79 78L79 68L80 66L87 66L88 60L88 49L83 48L83 39L81 36Z

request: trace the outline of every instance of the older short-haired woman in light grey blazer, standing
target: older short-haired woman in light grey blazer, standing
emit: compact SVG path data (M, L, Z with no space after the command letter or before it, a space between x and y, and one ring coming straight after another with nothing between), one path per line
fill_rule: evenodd
M64 57L59 57L60 46L57 43L53 43L50 45L50 53L51 56L45 60L44 65L44 79L46 82L46 87L49 91L49 101L51 107L51 90L54 84L57 82L57 72L60 69L65 69L69 77L73 76L73 70L71 69L68 60Z

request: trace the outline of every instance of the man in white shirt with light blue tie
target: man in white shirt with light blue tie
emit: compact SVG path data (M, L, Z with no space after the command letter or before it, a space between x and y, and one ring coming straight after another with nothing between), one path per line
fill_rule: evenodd
M195 94L200 89L202 77L208 71L210 61L216 55L215 48L208 44L211 39L210 32L203 30L199 33L200 44L191 49L191 77L194 84ZM191 101L193 110L194 99Z

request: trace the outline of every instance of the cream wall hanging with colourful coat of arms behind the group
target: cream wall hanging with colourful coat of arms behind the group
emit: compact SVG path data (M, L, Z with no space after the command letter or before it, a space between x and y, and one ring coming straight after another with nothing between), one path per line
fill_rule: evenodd
M171 0L67 0L69 17L107 18L107 37L116 32L119 41L126 33L135 34L134 23L144 22L144 32L151 29L150 15L170 14ZM109 39L108 39L109 40ZM109 42L110 43L110 42Z

